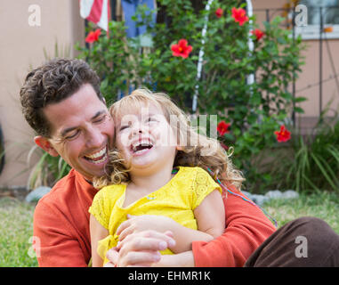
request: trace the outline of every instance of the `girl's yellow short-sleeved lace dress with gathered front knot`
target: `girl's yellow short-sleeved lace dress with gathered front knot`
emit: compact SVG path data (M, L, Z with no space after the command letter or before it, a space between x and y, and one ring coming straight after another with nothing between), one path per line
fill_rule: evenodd
M117 245L117 227L127 219L127 214L168 216L188 228L198 229L193 210L209 193L214 190L222 192L222 188L200 167L178 168L178 173L163 187L125 208L125 184L106 186L95 195L89 212L109 230L109 236L100 240L97 248L104 264L108 262L107 250ZM173 253L165 249L161 254Z

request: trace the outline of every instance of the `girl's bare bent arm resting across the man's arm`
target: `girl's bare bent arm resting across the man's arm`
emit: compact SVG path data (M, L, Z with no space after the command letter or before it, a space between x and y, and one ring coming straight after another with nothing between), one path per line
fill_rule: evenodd
M117 228L119 240L132 232L156 230L158 232L171 231L176 244L170 249L174 253L191 250L191 243L195 240L210 241L220 236L225 230L225 211L220 191L212 191L194 210L197 219L198 231L176 223L166 216L133 216Z

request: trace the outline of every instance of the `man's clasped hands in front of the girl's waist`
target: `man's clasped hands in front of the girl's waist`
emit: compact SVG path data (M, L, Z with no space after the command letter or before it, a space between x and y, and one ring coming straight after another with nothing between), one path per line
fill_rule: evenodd
M172 232L133 232L120 241L117 247L109 249L105 266L151 266L161 259L159 250L174 247Z

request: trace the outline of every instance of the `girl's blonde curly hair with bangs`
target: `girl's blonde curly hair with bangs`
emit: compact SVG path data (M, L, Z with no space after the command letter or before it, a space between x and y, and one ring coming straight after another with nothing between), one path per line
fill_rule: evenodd
M214 179L219 178L222 183L231 183L240 190L245 180L239 170L233 167L230 155L222 148L221 144L191 126L190 118L178 108L170 97L162 93L151 93L146 89L137 89L132 94L115 102L109 109L113 120L117 122L123 115L135 108L141 110L145 105L154 104L161 108L167 122L173 127L177 135L180 151L174 159L174 167L201 167L211 169ZM93 179L94 187L101 189L109 184L129 183L129 167L117 149L109 151L109 163L105 168L106 175Z

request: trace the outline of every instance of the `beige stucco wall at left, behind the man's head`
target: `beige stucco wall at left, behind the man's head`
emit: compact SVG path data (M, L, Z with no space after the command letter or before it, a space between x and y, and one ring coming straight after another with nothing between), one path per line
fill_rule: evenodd
M36 12L28 12L31 4L40 7L40 27L28 24L28 17ZM6 151L0 185L27 183L28 172L22 172L28 167L28 151L34 142L20 111L19 91L24 77L30 68L45 61L44 49L53 57L55 43L63 49L84 42L84 27L77 0L0 1L0 124ZM75 53L70 49L71 57Z

